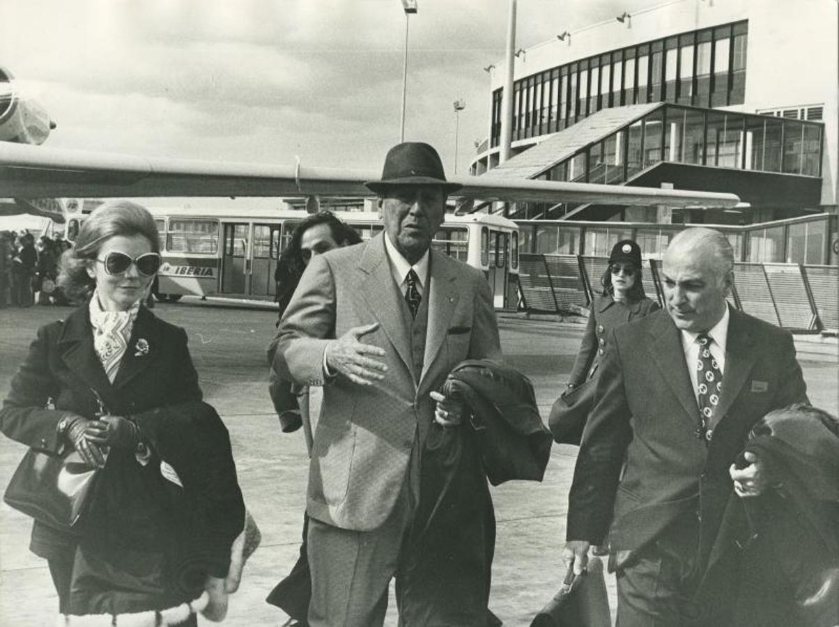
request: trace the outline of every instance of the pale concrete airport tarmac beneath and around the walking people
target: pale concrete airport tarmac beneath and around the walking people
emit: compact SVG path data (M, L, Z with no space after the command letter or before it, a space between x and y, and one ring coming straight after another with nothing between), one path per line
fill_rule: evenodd
M68 308L0 309L0 398L26 355L35 331ZM303 434L284 434L268 399L265 346L274 336L273 311L163 304L160 318L185 327L206 400L223 417L232 438L246 505L263 534L232 595L232 627L279 625L285 615L265 603L274 584L294 564L300 546L307 459ZM533 381L539 408L550 406L571 371L582 326L550 320L500 319L504 355ZM836 414L836 363L802 361L810 399ZM0 487L8 484L25 449L0 438ZM498 538L490 608L505 625L528 625L560 587L568 489L576 447L555 445L542 484L513 482L492 489ZM54 625L57 598L46 564L29 552L29 518L0 504L0 625ZM614 582L607 575L614 608ZM210 624L201 619L201 624ZM388 625L396 624L393 601Z

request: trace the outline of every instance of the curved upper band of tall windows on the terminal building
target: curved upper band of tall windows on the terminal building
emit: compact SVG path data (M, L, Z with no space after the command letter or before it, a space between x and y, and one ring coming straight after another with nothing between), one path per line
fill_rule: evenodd
M748 21L612 50L513 84L513 141L557 132L612 106L666 101L743 104ZM492 147L501 137L501 89L492 93Z

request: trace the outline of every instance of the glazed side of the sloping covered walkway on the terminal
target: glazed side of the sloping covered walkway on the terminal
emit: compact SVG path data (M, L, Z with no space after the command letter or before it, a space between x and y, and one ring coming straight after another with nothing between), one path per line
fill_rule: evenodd
M537 179L621 184L656 163L821 175L823 124L662 105Z

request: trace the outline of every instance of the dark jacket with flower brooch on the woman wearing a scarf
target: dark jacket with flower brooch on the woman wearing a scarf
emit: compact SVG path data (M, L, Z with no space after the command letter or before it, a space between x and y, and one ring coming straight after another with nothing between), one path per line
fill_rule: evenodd
M149 351L136 355L141 338L148 342ZM112 384L93 349L87 304L65 321L41 327L0 409L0 431L29 447L59 453L66 445L65 438L57 434L61 417L67 412L94 417L99 409L94 390L102 397L107 411L120 416L201 401L184 329L140 308ZM55 408L47 407L50 399ZM133 452L116 449L111 454L121 453L133 456ZM69 536L35 522L32 550L37 555L50 558L72 544Z

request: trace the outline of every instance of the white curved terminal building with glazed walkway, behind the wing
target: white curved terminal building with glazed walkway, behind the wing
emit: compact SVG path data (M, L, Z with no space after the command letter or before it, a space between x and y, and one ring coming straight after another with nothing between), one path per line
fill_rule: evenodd
M506 212L642 229L706 223L736 231L783 220L792 235L784 226L783 241L769 251L757 242L760 254L744 250L744 261L788 261L803 236L805 247L810 237L819 248L810 257L832 262L836 13L835 0L677 0L519 50L511 156L499 163L501 60L490 70L487 139L471 173L732 192L742 201L734 210L521 203ZM790 237L798 240L790 245Z

